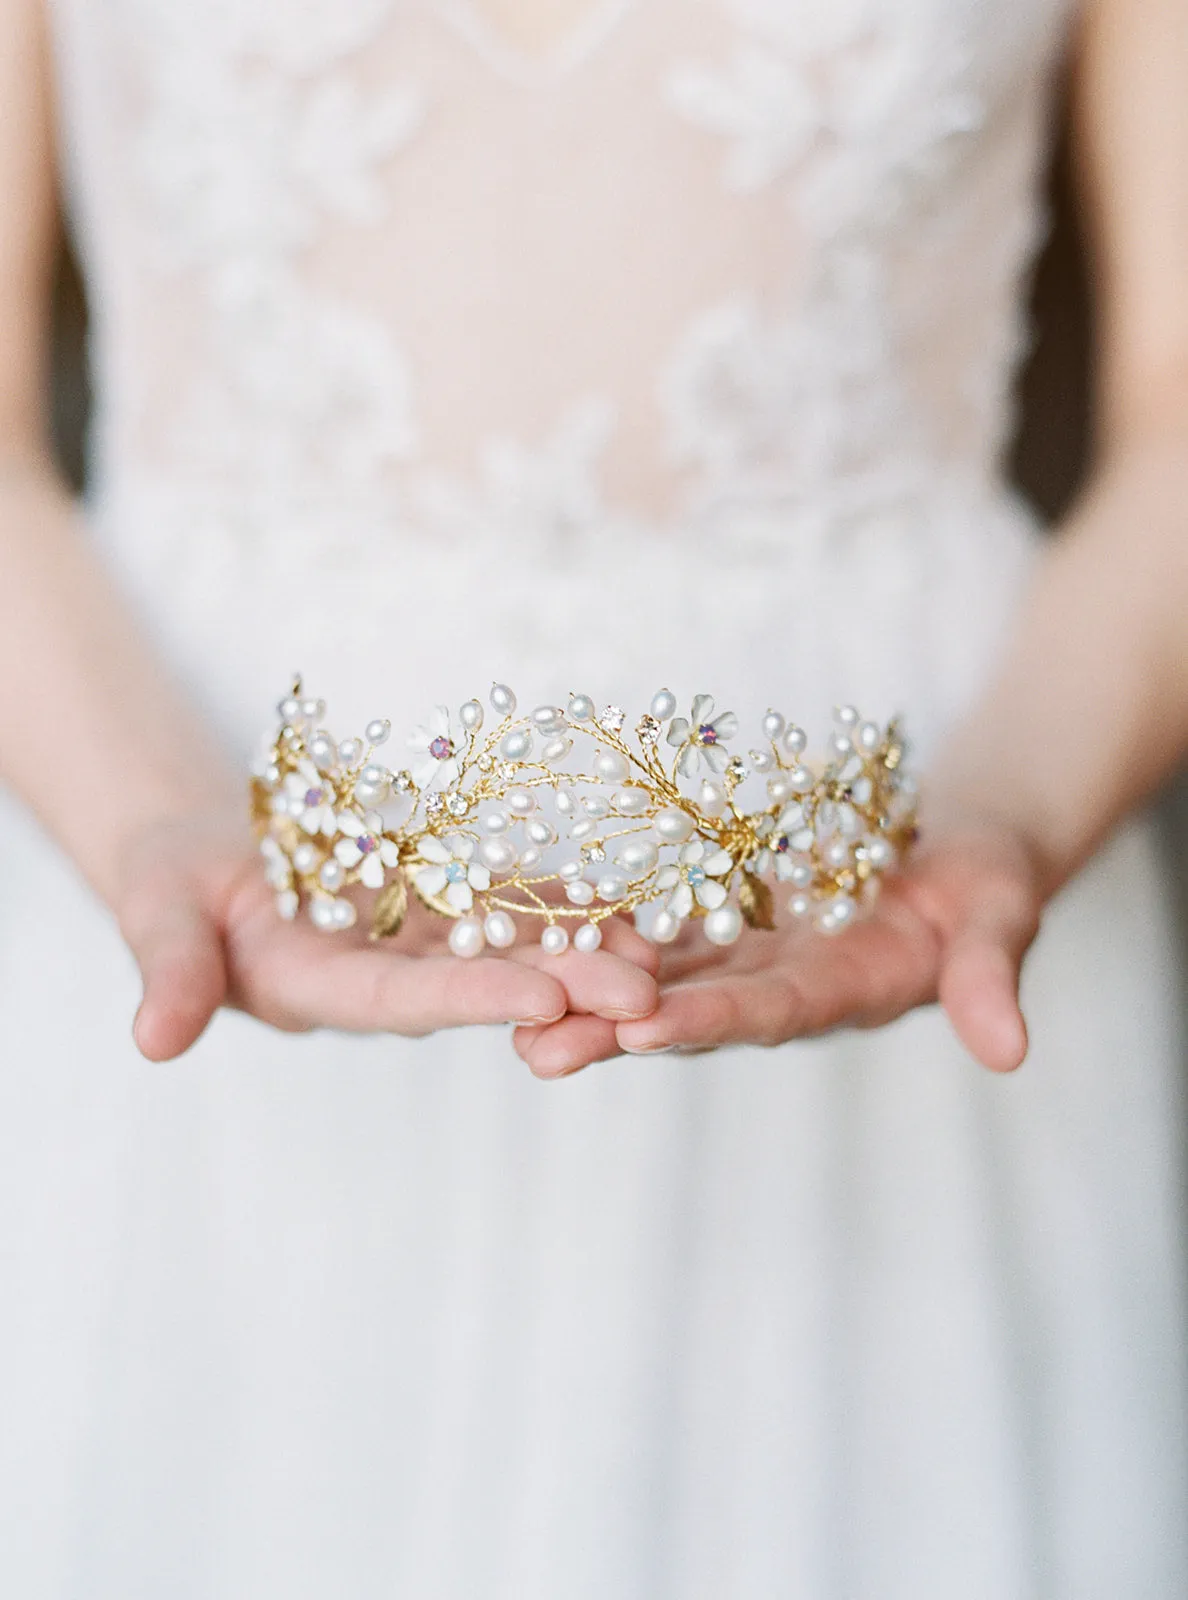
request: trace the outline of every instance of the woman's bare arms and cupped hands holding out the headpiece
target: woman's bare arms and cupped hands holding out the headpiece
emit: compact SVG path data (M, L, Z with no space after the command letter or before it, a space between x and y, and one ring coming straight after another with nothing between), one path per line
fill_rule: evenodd
M535 14L525 5L525 16ZM623 1051L773 1045L940 1002L993 1070L1026 1054L1018 974L1050 896L1188 747L1188 10L1084 13L1078 149L1103 349L1098 464L1034 578L1002 669L929 774L925 845L874 917L656 952L460 962L280 923L240 776L90 554L45 435L56 179L43 16L0 0L0 779L110 906L144 976L134 1038L181 1054L221 1005L282 1029L423 1035L516 1022L538 1077ZM54 781L90 774L83 814ZM1087 736L1092 733L1092 736ZM1004 781L1007 774L1009 781Z

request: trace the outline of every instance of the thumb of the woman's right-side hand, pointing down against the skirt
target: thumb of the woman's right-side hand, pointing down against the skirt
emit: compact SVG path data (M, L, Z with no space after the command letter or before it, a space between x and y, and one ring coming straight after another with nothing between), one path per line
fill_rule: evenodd
M991 1072L1013 1072L1028 1053L1018 978L1037 926L1033 896L1004 886L970 907L941 957L940 1003L965 1050Z

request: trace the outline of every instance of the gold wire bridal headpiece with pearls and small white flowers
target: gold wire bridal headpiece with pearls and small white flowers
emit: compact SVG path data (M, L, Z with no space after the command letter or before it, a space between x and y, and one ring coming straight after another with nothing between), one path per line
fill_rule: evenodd
M845 928L914 837L916 787L898 723L834 715L820 763L777 710L764 742L732 754L733 712L708 694L687 717L669 690L624 734L626 712L588 694L517 707L506 683L487 706L439 706L408 739L408 766L384 765L391 725L335 741L325 704L299 680L253 773L264 870L285 918L307 906L319 928L354 926L347 891L378 893L373 936L399 933L408 891L452 918L461 957L516 942L517 918L541 925L551 954L596 950L602 923L645 912L656 942L700 922L712 944L781 910L825 933ZM488 715L490 710L490 715ZM762 786L762 787L761 787ZM743 805L749 787L757 808ZM650 922L648 922L650 917Z

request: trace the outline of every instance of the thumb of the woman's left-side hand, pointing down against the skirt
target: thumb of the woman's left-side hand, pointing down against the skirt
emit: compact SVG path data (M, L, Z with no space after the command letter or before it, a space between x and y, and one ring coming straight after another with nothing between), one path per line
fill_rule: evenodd
M218 926L191 885L168 877L133 896L120 928L144 982L133 1022L136 1048L149 1061L171 1061L195 1043L226 997Z

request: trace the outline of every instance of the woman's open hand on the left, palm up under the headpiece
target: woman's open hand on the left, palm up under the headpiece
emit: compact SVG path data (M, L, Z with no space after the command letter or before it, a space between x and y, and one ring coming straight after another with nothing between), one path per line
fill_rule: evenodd
M613 1030L658 998L655 949L618 918L588 955L525 944L476 960L452 955L448 925L419 906L391 944L360 928L325 934L304 917L283 922L237 819L147 830L125 864L117 912L144 979L134 1038L151 1061L189 1050L223 1005L287 1030L421 1035L570 1013Z

